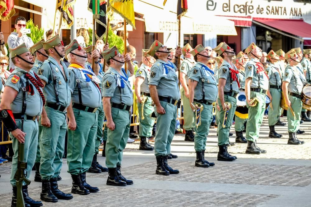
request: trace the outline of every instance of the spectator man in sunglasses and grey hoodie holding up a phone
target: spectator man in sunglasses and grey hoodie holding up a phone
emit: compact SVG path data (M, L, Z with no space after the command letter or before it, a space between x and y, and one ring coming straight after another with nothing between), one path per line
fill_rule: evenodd
M34 45L31 38L26 35L26 19L23 16L19 16L15 20L14 25L16 32L12 32L9 37L7 38L7 44L10 48L15 48L22 43L25 43L27 49L29 49L31 46ZM12 70L15 69L14 64L10 60L9 64L9 70L12 72Z

